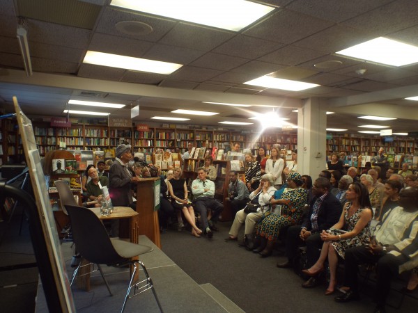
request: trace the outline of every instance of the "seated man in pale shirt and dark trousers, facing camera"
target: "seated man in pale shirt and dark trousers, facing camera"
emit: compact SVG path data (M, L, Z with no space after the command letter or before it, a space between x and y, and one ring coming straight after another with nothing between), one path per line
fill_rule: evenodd
M205 168L197 169L197 177L198 179L194 179L192 182L193 204L201 216L201 226L206 236L212 238L212 230L217 230L214 223L217 222L224 205L213 198L215 195L215 183L206 179ZM212 211L210 220L208 220L208 210Z

